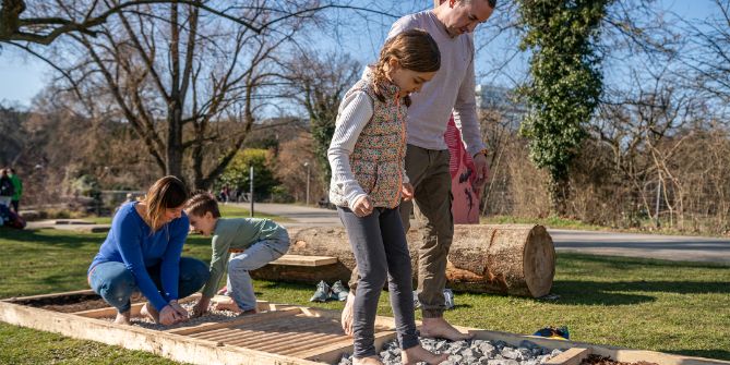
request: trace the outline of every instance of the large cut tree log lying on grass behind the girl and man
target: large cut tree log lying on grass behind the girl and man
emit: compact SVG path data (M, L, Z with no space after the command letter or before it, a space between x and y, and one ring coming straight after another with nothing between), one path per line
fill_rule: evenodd
M337 263L319 267L267 265L251 275L256 279L315 283L347 282L355 256L343 227L312 227L289 230L287 254L333 256ZM421 235L408 233L414 268L418 273ZM457 224L446 267L447 287L455 291L500 293L539 297L550 293L555 275L555 250L542 226Z

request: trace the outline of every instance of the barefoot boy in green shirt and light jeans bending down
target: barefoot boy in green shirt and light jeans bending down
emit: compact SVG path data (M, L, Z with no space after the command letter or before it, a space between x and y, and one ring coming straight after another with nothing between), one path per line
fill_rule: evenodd
M193 308L193 316L201 316L208 311L226 266L228 295L232 303L219 303L215 309L255 313L256 296L249 271L282 257L289 250L289 233L271 219L220 218L218 203L208 193L191 197L186 203L186 214L195 231L213 236L211 277L203 288L203 296Z

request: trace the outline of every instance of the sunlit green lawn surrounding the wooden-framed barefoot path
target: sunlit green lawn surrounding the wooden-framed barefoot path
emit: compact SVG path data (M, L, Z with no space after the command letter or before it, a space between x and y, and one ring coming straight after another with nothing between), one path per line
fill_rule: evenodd
M0 230L0 297L87 288L85 272L105 234ZM208 259L191 236L184 255ZM573 340L730 360L730 267L560 254L555 302L457 293L457 325L531 333L569 326ZM312 305L313 285L256 281L259 297ZM385 294L385 293L384 293ZM342 303L316 306L340 309ZM392 315L386 295L380 314ZM31 344L32 343L32 344ZM0 364L171 364L149 354L0 324Z

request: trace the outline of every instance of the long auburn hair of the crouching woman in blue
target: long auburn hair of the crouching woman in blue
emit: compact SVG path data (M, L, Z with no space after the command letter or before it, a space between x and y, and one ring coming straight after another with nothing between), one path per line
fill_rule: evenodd
M149 187L144 198L144 203L147 205L145 219L151 223L152 231L157 231L163 227L165 209L182 206L189 196L190 191L180 179L168 175L157 180Z

